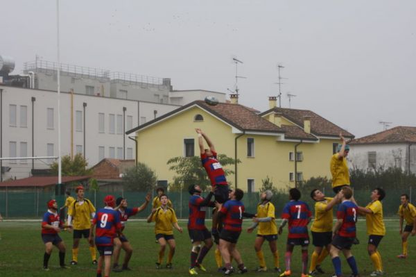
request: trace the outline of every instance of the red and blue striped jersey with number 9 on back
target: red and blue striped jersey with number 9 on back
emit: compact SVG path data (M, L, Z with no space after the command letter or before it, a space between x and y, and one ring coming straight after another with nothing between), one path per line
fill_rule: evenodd
M116 230L121 230L120 214L112 208L102 208L96 212L92 224L96 225L96 245L112 246Z

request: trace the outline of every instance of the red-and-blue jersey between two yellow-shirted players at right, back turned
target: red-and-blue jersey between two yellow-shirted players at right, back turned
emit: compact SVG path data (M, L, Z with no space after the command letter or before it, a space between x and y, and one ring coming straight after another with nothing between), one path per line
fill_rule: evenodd
M358 207L352 201L343 201L336 212L337 219L343 219L343 225L338 230L341 237L356 237L356 221Z

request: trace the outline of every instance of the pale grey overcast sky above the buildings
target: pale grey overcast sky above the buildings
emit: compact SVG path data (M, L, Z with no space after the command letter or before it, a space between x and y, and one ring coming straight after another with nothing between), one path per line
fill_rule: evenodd
M0 55L56 60L56 1L0 1ZM416 1L60 1L61 62L234 89L266 110L313 110L362 137L416 126ZM227 92L228 93L228 92Z

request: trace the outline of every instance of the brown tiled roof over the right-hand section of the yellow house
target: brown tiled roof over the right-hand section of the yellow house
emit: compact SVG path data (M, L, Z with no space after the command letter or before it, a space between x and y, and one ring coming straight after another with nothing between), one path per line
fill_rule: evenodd
M267 115L270 112L281 112L283 117L292 121L293 123L304 127L304 117L308 116L311 118L311 133L313 135L328 135L328 136L336 136L338 137L339 133L342 132L345 137L354 137L352 133L336 126L331 121L324 119L320 115L317 115L315 112L311 110L296 110L296 109L289 109L289 108L272 108L270 110L266 110L266 112L261 112L260 115Z

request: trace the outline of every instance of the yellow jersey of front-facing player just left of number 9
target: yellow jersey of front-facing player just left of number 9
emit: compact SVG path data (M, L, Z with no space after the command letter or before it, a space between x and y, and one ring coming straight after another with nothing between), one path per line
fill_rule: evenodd
M68 215L72 217L74 230L85 230L91 227L91 214L95 212L94 205L88 199L73 201L68 207Z

